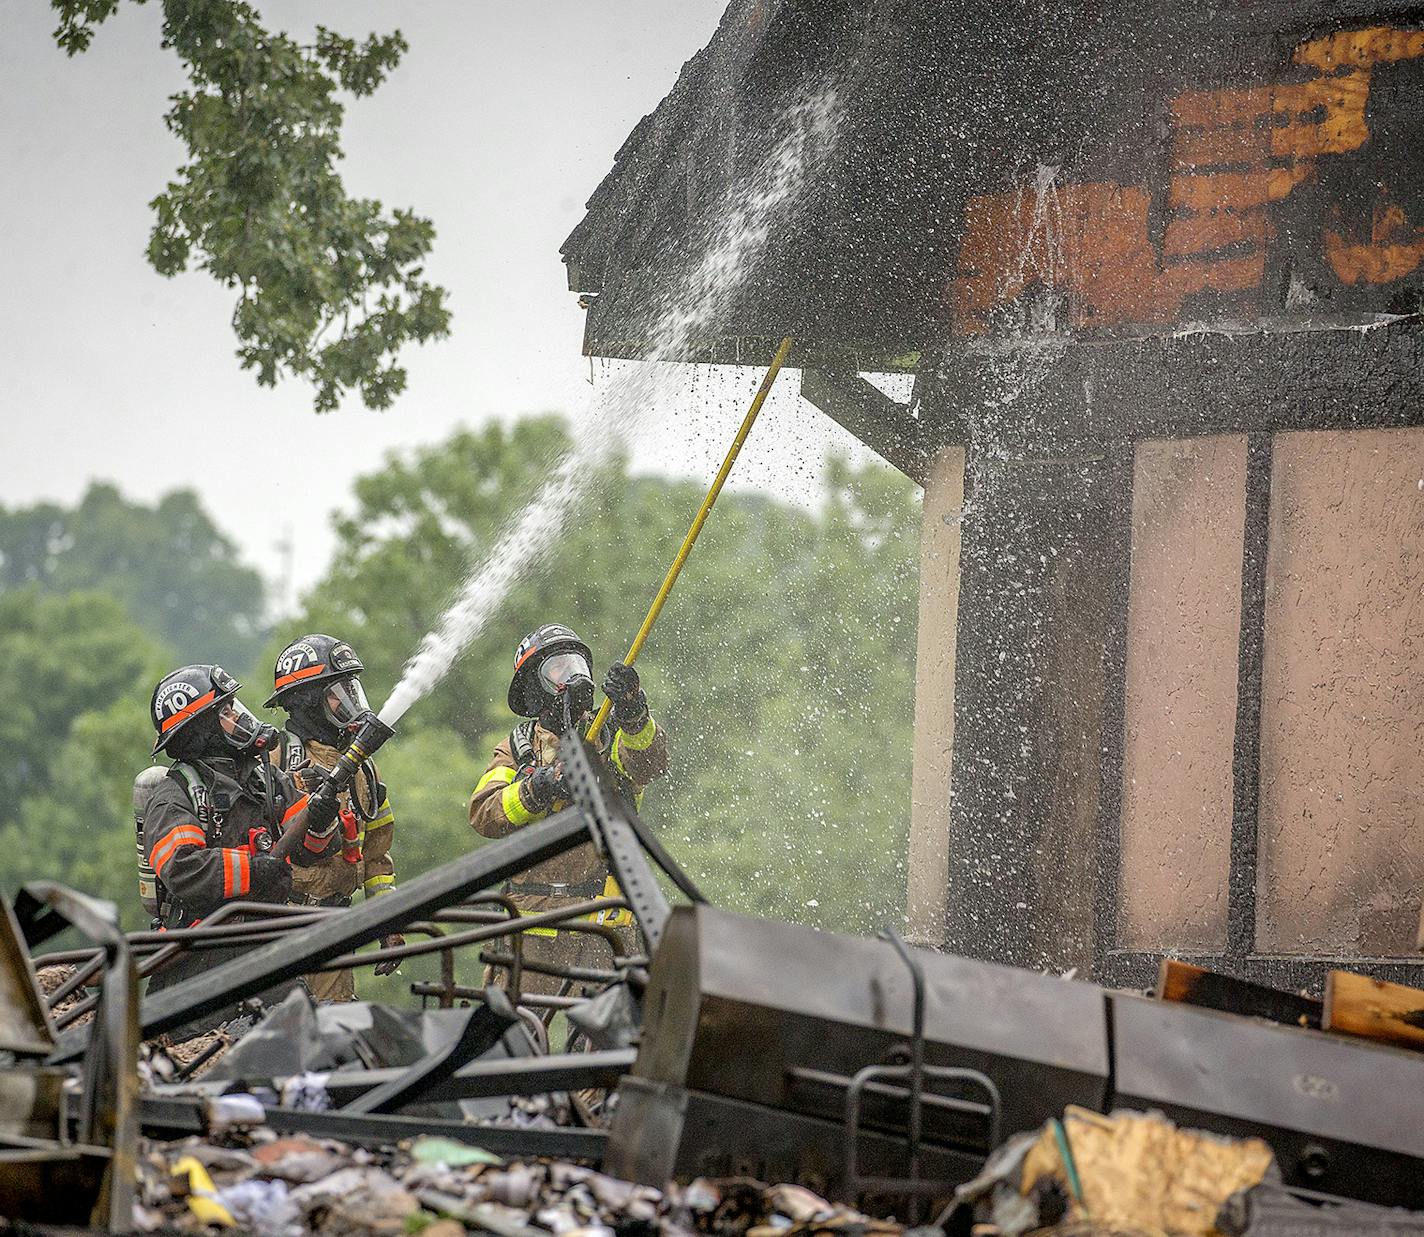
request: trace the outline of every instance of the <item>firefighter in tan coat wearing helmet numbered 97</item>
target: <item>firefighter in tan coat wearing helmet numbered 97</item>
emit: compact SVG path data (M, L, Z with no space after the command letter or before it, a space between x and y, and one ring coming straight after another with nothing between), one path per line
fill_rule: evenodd
M299 789L316 789L369 716L360 683L365 669L350 645L319 633L293 641L278 655L266 707L285 709L288 722L273 760ZM362 764L352 789L342 791L340 806L339 836L315 864L292 874L295 905L349 907L357 888L375 898L396 887L390 854L396 814L372 762ZM382 941L386 948L403 944L406 938L399 932ZM375 972L389 975L399 965L397 959L377 962ZM308 975L306 986L318 1001L356 999L356 977L350 971Z

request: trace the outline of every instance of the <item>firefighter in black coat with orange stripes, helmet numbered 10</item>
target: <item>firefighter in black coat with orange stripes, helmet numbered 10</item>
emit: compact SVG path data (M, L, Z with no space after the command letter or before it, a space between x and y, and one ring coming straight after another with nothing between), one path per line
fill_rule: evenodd
M286 902L293 864L319 860L329 820L308 820L306 797L268 753L278 732L238 699L222 666L182 666L154 688L154 756L174 764L155 779L144 811L144 858L157 877L162 928L187 928L225 902ZM285 827L310 824L292 864L271 854ZM192 951L157 971L151 992L232 952Z

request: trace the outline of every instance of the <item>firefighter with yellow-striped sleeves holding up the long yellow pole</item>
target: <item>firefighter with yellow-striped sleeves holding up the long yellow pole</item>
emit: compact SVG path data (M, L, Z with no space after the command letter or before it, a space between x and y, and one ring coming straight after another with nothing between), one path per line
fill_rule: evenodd
M668 744L662 727L648 712L648 698L632 666L615 662L604 678L612 703L614 726L605 727L600 749L604 760L635 803L644 787L668 772ZM515 726L494 749L484 776L470 796L470 824L486 837L504 837L543 820L565 806L558 759L560 735L585 730L594 710L592 653L570 628L551 623L527 635L514 653L510 709L528 720ZM611 737L608 737L611 733ZM520 911L555 910L614 891L608 870L592 844L535 864L507 893ZM605 917L625 925L627 912ZM631 932L625 932L631 941ZM523 937L527 961L555 967L607 965L602 942L587 932L528 928ZM525 972L525 992L554 994L558 977Z

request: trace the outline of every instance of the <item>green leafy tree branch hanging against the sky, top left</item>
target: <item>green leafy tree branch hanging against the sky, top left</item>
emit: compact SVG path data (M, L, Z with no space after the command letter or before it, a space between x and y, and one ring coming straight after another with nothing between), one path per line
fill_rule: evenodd
M51 3L70 56L118 9L117 0ZM151 204L148 260L168 276L197 263L238 290L238 357L262 386L295 374L315 386L318 411L349 390L370 409L390 407L406 386L402 347L446 337L450 313L444 289L423 278L430 221L346 195L336 95L375 91L404 38L357 43L318 27L315 44L302 46L266 30L241 0L162 9L164 47L191 83L165 121L188 161Z

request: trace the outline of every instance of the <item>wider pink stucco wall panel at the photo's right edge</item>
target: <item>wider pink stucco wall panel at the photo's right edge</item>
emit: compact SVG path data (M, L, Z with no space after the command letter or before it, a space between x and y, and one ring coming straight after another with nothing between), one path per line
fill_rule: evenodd
M1414 952L1424 877L1424 431L1277 434L1257 945Z

